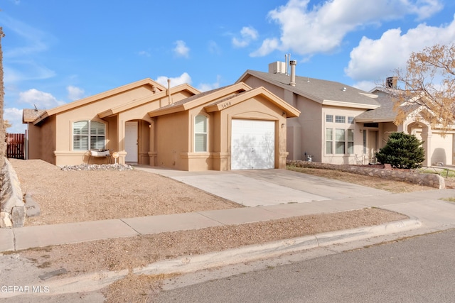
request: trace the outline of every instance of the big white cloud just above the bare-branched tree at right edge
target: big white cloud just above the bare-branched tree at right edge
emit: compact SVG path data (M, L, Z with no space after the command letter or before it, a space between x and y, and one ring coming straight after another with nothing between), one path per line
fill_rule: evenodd
M350 52L345 72L358 80L385 79L396 69L403 69L412 52L439 44L451 45L455 40L455 20L446 27L420 24L402 34L400 28L391 29L378 40L363 37Z

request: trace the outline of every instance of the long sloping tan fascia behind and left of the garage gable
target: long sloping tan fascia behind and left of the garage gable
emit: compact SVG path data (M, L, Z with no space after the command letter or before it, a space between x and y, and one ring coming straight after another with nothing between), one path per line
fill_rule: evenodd
M228 87L225 87L223 89L216 90L213 93L210 94L205 94L204 96L201 96L200 98L196 98L193 101L189 101L183 104L178 104L175 106L166 106L161 109L156 109L154 111L149 112L149 116L151 118L156 117L156 116L161 116L161 115L166 115L166 114L172 114L176 113L178 111L186 111L188 109L191 109L195 106L199 106L204 103L208 103L210 101L213 101L213 99L219 99L223 96L226 96L228 94L232 94L232 92L238 91L240 89L250 90L251 87L248 86L247 84L240 82L236 84L232 84Z

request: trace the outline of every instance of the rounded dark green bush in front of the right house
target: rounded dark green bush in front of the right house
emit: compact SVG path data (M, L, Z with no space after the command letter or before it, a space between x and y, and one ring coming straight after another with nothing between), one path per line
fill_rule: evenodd
M425 151L422 141L407 133L391 133L384 148L375 154L382 164L397 168L417 168L422 166Z

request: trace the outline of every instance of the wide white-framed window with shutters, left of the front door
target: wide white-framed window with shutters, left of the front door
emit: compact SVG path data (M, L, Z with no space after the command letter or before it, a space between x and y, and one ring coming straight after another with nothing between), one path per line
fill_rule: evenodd
M97 121L77 121L73 123L73 150L106 148L105 123Z

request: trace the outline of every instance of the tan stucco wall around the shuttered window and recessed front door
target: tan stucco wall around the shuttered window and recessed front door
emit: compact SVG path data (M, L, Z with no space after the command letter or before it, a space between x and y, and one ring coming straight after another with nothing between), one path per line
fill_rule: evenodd
M89 159L88 151L73 150L73 122L91 120L106 124L106 148L111 150L111 152L119 152L121 157L118 161L124 163L124 123L127 121L139 121L138 160L140 164L149 164L149 152L151 151L150 131L153 119L149 117L148 112L168 104L167 96L154 100L153 95L151 87L144 85L110 97L85 102L81 106L73 107L66 111L60 111L44 119L37 126L30 124L29 157L41 158L60 166L87 163ZM171 100L179 101L191 95L192 93L187 91L178 92L171 95ZM147 101L147 98L153 101ZM139 99L144 100L144 102L142 104L134 104L134 106L126 105ZM114 109L118 112L100 119L98 114L109 109ZM105 158L90 159L90 163L105 162L107 162Z

